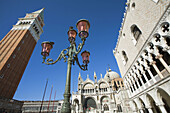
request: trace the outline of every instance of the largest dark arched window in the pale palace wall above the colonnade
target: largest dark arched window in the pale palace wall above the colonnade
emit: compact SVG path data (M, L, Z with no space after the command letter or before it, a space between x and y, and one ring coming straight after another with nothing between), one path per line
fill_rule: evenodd
M140 35L142 34L141 30L140 30L136 25L132 25L132 26L131 26L131 32L132 32L133 38L134 38L136 41L138 41ZM136 44L136 42L135 42L135 44Z

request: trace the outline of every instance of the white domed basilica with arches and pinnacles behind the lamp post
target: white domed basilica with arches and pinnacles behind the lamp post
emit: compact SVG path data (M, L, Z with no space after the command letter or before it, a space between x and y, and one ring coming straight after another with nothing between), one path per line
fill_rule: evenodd
M104 77L97 80L94 72L94 81L87 75L86 80L78 77L78 91L72 94L72 113L113 113L128 111L126 102L128 95L119 74L111 69ZM124 96L121 96L121 95ZM128 112L127 112L128 113Z

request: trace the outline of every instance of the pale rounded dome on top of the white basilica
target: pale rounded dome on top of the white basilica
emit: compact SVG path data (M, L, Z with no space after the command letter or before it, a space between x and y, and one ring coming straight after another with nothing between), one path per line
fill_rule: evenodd
M109 80L113 80L115 78L120 78L119 74L112 71L111 69L109 69L109 71L106 72L104 79L109 81Z

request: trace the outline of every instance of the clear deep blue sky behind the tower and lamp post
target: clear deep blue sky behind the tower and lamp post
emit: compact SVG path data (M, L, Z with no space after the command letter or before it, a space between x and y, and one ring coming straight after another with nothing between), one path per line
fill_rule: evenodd
M91 53L90 63L88 71L82 71L77 65L72 66L71 92L77 91L79 72L84 80L87 74L93 80L94 71L99 80L100 73L104 77L108 67L120 74L112 51L116 46L125 2L125 0L0 0L0 39L10 31L18 18L24 17L26 13L45 8L44 32L33 51L14 99L41 100L47 78L45 100L49 99L52 85L51 98L54 98L56 91L56 99L63 99L67 63L61 60L54 65L42 64L41 42L53 41L55 43L49 57L56 59L60 51L69 46L67 36L69 27L73 26L77 30L76 23L82 18L89 20L91 25L89 37L83 47L83 50ZM77 45L80 42L77 35ZM82 64L81 55L79 55L79 60Z

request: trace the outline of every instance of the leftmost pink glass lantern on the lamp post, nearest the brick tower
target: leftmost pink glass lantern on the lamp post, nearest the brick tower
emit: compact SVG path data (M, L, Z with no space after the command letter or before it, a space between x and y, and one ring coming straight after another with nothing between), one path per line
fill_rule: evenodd
M53 48L53 44L54 42L42 42L41 43L41 46L42 46L42 52L41 52L41 55L43 56L49 56L50 54L50 50Z

